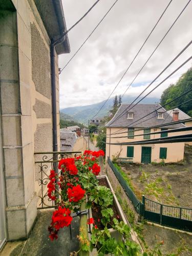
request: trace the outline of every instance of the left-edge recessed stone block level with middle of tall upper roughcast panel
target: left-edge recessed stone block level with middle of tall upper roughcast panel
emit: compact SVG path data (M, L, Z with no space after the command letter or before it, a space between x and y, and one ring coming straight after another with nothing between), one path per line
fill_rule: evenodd
M0 47L1 80L18 80L18 48Z

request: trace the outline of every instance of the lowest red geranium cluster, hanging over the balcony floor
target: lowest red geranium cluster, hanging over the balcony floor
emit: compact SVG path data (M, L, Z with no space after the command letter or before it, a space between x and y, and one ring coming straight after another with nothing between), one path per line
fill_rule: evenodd
M70 216L71 211L68 208L58 207L58 210L53 212L52 223L49 227L50 239L57 239L57 232L60 228L67 227L71 224L73 218Z

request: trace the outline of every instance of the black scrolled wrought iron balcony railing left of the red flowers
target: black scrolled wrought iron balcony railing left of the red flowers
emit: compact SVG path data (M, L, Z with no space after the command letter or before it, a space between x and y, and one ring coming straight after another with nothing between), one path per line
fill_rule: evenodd
M76 152L36 152L35 155L35 180L38 196L37 209L55 208L55 201L48 197L47 184L49 183L50 170L57 172L57 165L60 159L75 157L81 154Z

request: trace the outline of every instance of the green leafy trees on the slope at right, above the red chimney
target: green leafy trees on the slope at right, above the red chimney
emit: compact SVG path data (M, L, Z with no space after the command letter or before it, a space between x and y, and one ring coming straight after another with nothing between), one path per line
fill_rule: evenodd
M189 91L191 88L192 88L192 67L188 69L187 72L184 73L175 84L170 84L170 86L163 91L161 95L161 100L160 100L161 105L168 103L174 98ZM165 108L167 110L173 109L176 105L179 105L189 99L192 99L192 91L178 98L177 100L174 100L172 103L167 104ZM188 115L191 115L192 113L191 101L185 104L182 104L181 106L179 106L179 109L181 109L183 112L187 113Z

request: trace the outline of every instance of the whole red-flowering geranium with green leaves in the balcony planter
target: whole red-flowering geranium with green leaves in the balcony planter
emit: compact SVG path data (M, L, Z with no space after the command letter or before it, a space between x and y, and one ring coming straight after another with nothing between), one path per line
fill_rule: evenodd
M118 216L114 218L110 188L98 185L96 176L100 173L99 156L104 156L104 152L84 151L75 158L61 159L58 164L59 175L51 170L48 196L56 202L57 209L53 212L48 228L49 237L51 240L57 239L59 229L71 224L71 213L79 211L82 202L86 201L87 208L100 207L101 219L88 220L88 224L93 224L91 239L88 241L82 235L78 236L80 250L92 251L96 248L99 255L139 255L138 245L130 241L129 226L120 221ZM116 229L123 240L112 238L108 228Z

